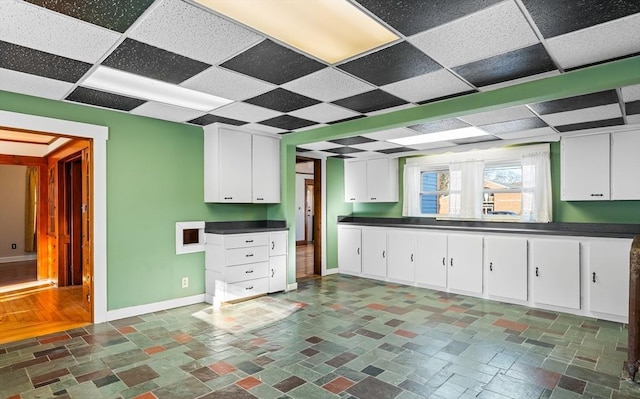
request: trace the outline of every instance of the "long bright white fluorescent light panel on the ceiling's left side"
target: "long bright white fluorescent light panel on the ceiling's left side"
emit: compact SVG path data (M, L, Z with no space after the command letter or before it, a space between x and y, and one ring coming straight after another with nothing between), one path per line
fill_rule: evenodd
M92 89L209 112L233 101L105 66L82 82Z

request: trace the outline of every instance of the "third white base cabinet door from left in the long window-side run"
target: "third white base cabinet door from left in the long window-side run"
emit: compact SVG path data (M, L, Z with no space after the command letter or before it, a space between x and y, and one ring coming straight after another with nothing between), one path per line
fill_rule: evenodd
M413 283L416 279L416 234L408 231L389 232L389 262L387 276Z

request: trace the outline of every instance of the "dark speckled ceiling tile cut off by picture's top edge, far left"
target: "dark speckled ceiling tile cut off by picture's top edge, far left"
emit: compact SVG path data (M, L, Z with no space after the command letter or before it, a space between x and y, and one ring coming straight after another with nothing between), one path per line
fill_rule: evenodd
M154 0L26 0L60 14L124 33Z

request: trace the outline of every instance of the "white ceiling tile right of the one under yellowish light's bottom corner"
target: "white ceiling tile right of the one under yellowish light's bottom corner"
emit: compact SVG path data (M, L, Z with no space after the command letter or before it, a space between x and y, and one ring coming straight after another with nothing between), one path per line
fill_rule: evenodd
M382 90L410 102L420 102L473 89L446 69L416 76L380 87Z

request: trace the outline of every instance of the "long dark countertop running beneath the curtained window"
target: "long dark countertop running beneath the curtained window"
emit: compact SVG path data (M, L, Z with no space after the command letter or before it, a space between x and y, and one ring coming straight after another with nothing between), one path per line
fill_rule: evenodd
M582 237L633 238L636 235L640 235L640 224L482 222L475 220L436 220L434 218L417 217L381 218L364 216L338 216L338 223L343 225L353 224L375 227Z

